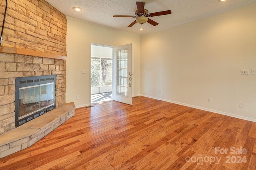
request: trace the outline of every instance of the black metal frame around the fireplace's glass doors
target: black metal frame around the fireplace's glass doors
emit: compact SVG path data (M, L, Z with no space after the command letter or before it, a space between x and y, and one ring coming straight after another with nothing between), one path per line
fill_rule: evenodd
M19 88L54 82L54 105L40 109L26 117L19 119ZM56 75L18 77L15 79L15 127L18 127L55 108L56 105Z

